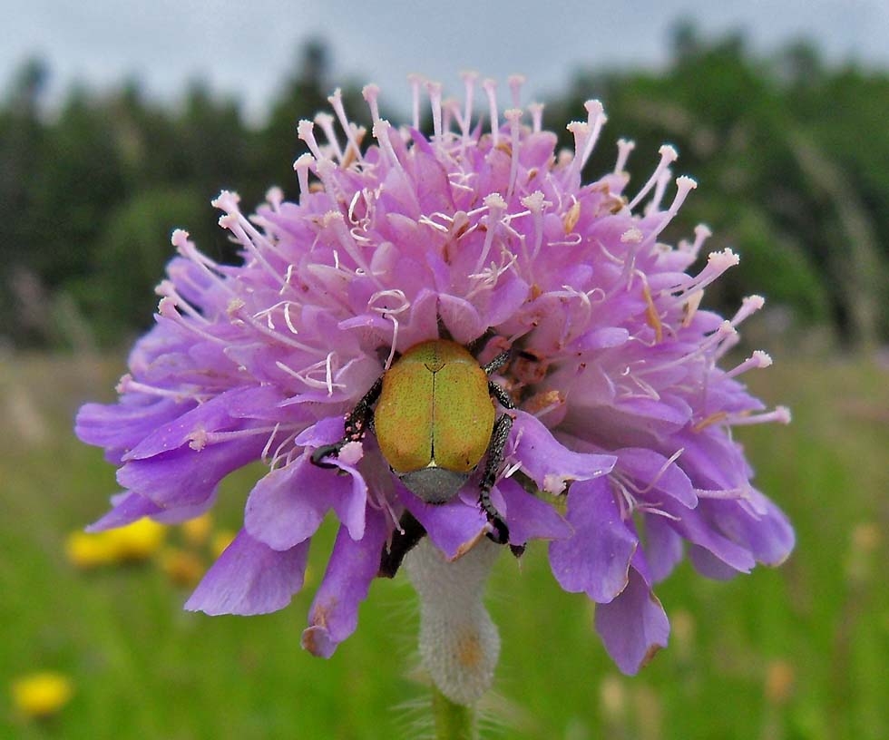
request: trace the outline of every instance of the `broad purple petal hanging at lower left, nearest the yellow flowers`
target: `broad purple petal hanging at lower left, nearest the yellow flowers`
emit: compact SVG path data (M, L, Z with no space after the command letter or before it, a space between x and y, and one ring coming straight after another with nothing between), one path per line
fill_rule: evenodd
M308 540L272 550L241 530L198 584L185 609L219 614L268 614L284 609L302 588Z

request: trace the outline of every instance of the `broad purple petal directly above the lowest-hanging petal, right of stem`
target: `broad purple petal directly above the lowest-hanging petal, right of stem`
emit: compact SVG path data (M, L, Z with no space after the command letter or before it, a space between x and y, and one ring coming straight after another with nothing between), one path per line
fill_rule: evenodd
M552 575L562 589L607 603L626 588L636 536L620 518L611 483L579 482L568 493L568 522L574 534L550 543Z

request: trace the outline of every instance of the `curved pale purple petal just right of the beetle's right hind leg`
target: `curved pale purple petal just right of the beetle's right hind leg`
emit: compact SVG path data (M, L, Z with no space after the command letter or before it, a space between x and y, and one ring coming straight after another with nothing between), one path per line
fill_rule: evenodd
M561 493L566 482L589 481L610 472L617 462L613 455L573 453L536 417L519 410L510 414L515 419L514 456L543 491Z

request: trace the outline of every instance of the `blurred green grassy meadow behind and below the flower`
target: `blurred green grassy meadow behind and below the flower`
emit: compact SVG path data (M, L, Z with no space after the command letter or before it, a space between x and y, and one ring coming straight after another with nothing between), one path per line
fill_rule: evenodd
M780 570L728 583L683 564L659 588L669 649L621 677L580 595L562 593L545 547L502 557L489 604L503 656L486 736L889 737L889 374L786 359L751 378L794 424L741 429L757 483L796 524ZM282 612L208 618L151 563L84 572L64 538L115 491L112 467L70 432L86 399L110 399L122 366L0 357L0 737L409 738L427 688L403 576L376 581L356 635L324 661L299 647L331 540ZM232 476L217 522L237 527L250 486ZM35 669L73 679L68 706L16 716L8 686ZM881 679L882 677L882 679Z

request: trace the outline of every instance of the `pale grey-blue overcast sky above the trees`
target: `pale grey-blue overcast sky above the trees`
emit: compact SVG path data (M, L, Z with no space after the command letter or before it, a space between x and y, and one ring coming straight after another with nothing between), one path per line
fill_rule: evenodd
M454 92L464 69L503 81L523 73L533 94L581 66L663 63L680 17L707 33L744 28L764 52L805 36L832 59L889 67L889 0L0 0L0 83L39 54L55 95L74 79L107 86L136 76L168 98L201 77L257 116L299 42L321 37L336 78L376 82L384 109L404 108L410 72Z

